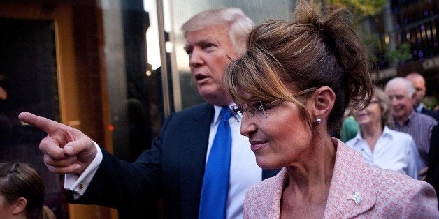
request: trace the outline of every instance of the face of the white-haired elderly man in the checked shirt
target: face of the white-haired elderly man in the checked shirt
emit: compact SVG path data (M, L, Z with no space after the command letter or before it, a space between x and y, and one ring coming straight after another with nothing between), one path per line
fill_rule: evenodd
M395 121L407 121L413 110L412 98L408 96L408 89L403 84L392 84L386 88L386 94L391 100L392 115Z

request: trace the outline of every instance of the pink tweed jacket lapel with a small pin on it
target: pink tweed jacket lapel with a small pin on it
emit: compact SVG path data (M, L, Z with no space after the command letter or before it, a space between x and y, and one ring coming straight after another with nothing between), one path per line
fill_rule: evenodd
M343 142L337 142L336 163L324 218L352 218L371 209L377 195L361 154Z

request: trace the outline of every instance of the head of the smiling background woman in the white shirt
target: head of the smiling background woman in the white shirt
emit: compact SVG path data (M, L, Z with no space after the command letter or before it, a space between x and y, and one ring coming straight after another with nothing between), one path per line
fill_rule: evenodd
M363 110L354 110L353 116L361 127L380 123L384 128L391 124L391 101L382 89L373 86L373 98L369 105Z

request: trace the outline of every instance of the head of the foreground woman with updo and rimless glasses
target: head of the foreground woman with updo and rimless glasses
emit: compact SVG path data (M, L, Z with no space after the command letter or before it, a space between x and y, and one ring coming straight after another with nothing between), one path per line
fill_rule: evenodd
M246 112L240 131L251 143L295 148L291 142L308 141L317 126L326 135L334 133L350 100L368 103L372 89L366 50L344 13L337 10L325 19L301 3L293 22L271 20L252 29L247 52L224 77L226 91ZM248 104L255 101L259 105ZM263 116L257 119L256 114ZM285 130L285 136L269 127ZM292 153L275 151L271 158L285 154ZM258 154L257 161L264 163Z

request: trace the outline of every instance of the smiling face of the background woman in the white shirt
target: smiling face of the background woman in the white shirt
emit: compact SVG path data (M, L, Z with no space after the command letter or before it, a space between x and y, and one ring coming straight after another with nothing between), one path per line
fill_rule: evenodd
M360 126L370 126L377 123L381 125L380 100L373 97L366 108L363 110L354 110L352 114Z

